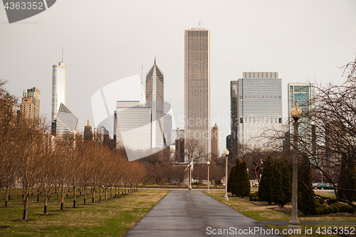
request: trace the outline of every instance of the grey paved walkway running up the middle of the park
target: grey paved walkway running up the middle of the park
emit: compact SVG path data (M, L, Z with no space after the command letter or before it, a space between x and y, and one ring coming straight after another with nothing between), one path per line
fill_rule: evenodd
M265 223L248 218L201 191L174 190L125 236L278 236L268 231L271 230Z

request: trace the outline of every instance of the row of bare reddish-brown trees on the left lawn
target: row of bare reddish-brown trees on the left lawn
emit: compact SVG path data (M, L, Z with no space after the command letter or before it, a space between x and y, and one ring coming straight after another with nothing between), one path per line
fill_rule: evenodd
M128 162L120 150L112 150L100 142L83 142L83 137L53 137L46 120L33 123L16 115L16 99L4 90L0 81L0 189L6 190L7 206L11 188L23 200L23 219L27 218L28 197L37 193L44 198L44 213L53 194L64 198L73 189L91 190L92 201L99 189L99 200L110 198L112 191L120 195L120 187L132 189L145 177L145 167ZM114 189L115 188L115 189Z

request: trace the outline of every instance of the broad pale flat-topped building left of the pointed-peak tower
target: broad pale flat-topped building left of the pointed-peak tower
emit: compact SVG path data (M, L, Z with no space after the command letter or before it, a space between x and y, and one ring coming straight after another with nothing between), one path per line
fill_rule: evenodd
M140 101L116 102L116 147L126 152L151 148L151 109ZM129 154L127 157L130 160Z

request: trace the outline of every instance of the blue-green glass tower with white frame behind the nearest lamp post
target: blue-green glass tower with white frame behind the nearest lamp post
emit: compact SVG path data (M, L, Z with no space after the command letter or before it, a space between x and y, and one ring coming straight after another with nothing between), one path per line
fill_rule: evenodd
M308 147L309 152L315 154L315 115L313 115L315 98L315 85L314 83L288 83L288 115L290 110L298 103L302 110L302 116L298 126L300 139L306 139L305 144L311 144ZM294 133L293 122L289 121L289 131L292 135Z

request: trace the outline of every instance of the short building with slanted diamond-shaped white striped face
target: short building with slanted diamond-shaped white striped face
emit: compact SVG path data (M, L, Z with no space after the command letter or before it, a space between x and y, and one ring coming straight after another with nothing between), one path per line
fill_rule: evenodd
M78 117L75 117L70 110L61 103L58 109L58 115L52 122L53 128L55 129L56 137L78 135L80 133L80 127L78 122Z

